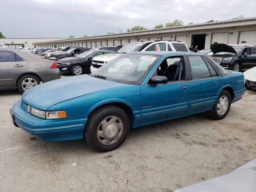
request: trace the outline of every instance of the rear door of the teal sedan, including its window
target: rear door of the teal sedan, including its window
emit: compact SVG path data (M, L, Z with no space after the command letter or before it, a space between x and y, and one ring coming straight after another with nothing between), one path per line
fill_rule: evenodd
M210 110L223 84L213 66L202 56L190 55L191 80L189 83L189 109L187 114Z

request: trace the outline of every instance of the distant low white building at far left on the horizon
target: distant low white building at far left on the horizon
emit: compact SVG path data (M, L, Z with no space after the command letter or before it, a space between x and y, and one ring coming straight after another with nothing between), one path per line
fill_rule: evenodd
M46 42L46 41L55 41L55 40L63 40L65 38L0 38L0 45L6 47L21 47L24 44L25 48L34 48L33 43L35 42Z

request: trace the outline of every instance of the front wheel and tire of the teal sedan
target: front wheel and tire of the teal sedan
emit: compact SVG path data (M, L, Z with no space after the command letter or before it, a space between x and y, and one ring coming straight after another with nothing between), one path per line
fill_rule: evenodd
M118 106L108 105L96 109L90 115L84 138L94 150L107 152L118 148L124 142L129 129L130 121L126 112Z

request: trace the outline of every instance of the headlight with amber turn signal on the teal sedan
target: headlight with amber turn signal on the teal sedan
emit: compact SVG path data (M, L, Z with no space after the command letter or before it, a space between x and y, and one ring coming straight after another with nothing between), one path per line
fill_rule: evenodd
M34 107L28 106L28 112L34 116L42 119L62 119L66 118L67 114L65 111L50 111L46 112L43 110L36 109Z

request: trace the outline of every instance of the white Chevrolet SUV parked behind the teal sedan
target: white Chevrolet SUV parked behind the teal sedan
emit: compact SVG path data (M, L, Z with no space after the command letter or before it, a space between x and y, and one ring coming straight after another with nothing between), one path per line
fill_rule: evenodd
M118 53L96 56L92 59L90 67L93 73L105 63L116 58L120 53L136 52L136 51L182 51L189 52L188 46L178 41L154 41L154 42L133 42L124 45Z

